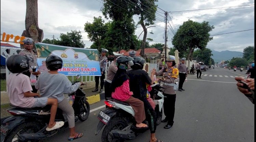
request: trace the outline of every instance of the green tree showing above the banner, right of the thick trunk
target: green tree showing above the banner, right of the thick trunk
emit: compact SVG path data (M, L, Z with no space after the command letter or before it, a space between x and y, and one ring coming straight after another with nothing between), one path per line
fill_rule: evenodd
M59 45L61 46L69 46L69 47L76 47L76 48L84 48L85 44L82 41L81 31L72 31L67 34L60 33L60 42Z

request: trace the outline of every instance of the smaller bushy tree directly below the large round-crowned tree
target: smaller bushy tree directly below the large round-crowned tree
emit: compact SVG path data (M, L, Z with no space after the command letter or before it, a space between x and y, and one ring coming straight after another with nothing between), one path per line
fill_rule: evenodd
M212 65L212 51L209 48L204 48L203 50L198 49L194 51L194 58L199 62L202 61L205 65ZM213 61L214 62L214 61Z

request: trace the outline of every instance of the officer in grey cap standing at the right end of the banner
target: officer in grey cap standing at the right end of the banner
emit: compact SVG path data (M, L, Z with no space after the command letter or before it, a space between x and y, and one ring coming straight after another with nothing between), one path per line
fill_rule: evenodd
M100 71L101 76L95 76L95 90L93 92L99 91L99 78L100 78L100 93L103 91L104 86L104 78L105 78L105 69L108 63L108 58L106 57L106 53L109 52L108 50L102 48L101 56L99 58L100 61Z

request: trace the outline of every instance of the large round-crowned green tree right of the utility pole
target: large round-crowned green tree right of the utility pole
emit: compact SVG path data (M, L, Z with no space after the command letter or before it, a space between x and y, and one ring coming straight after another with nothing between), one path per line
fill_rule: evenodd
M213 39L209 33L212 29L214 26L209 25L209 22L199 23L188 20L183 22L183 25L177 30L172 38L172 44L179 52L187 52L187 59L191 61L194 50L206 48L207 43Z

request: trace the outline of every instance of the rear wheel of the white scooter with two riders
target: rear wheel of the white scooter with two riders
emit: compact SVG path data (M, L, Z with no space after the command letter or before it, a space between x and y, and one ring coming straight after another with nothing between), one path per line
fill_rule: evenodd
M112 118L108 125L102 131L101 141L102 142L122 142L119 139L112 139L110 132L112 130L122 130L128 126L128 123L125 119L121 117L114 117Z

